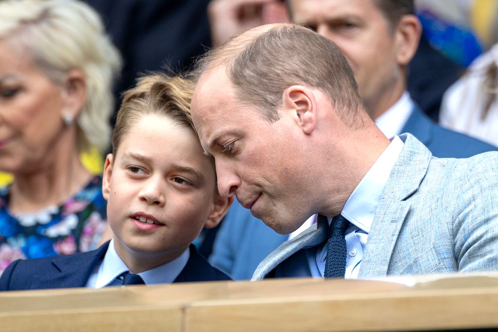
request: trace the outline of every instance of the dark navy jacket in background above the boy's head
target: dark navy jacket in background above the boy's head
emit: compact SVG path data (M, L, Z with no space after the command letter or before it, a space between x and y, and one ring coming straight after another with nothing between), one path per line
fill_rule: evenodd
M123 71L114 89L116 111L120 94L135 85L139 73L162 71L164 66L184 71L211 46L209 0L83 1L101 14L123 55Z

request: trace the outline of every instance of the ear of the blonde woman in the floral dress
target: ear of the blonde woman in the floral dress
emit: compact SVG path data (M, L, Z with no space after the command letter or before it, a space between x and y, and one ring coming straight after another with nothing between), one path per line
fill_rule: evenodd
M87 96L87 86L85 73L81 69L72 69L67 74L62 86L62 96L64 98L64 108L62 118L74 120L80 114Z

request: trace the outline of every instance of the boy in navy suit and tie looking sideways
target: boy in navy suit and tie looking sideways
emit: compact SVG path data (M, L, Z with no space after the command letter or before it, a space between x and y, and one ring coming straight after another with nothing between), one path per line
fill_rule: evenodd
M230 279L191 244L233 201L218 193L214 161L190 120L191 96L189 81L161 74L124 94L102 188L113 239L87 253L15 261L0 290Z

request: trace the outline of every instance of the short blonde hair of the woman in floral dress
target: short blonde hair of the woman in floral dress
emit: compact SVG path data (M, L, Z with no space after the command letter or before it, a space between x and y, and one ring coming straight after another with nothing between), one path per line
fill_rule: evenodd
M0 1L0 40L28 52L54 83L75 68L85 74L86 100L77 119L78 150L105 152L114 108L112 84L122 60L98 13L78 0Z

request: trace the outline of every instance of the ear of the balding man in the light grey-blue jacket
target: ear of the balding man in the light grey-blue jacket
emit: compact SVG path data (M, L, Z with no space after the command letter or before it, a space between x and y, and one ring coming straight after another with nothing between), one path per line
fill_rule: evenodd
M290 114L294 123L306 134L316 128L317 103L313 90L301 85L288 87L283 95L282 113Z

